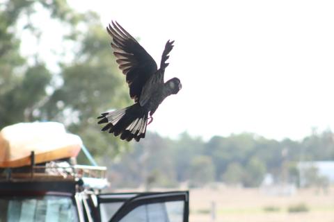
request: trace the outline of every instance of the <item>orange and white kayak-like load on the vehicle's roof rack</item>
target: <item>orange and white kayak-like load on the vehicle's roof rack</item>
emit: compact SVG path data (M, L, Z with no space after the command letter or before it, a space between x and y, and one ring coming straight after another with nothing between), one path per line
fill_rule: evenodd
M66 133L56 122L17 123L0 131L0 167L23 167L35 163L77 157L82 146L79 136Z

